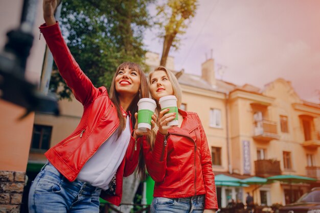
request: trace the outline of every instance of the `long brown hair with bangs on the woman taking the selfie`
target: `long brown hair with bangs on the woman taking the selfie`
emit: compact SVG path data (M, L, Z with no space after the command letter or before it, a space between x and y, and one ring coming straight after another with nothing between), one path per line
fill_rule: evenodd
M134 62L123 62L122 64L120 64L116 70L115 75L113 76L112 79L112 83L110 86L110 92L109 92L109 96L111 101L113 102L113 104L115 104L116 108L117 108L117 113L118 113L118 118L120 121L119 124L119 130L118 131L118 136L121 135L122 131L125 129L126 127L126 123L125 123L125 119L122 115L122 110L121 110L121 106L120 106L120 101L119 101L119 93L116 90L116 77L119 73L120 69L124 69L128 67L131 70L135 70L136 72L139 73L140 75L140 87L138 92L135 94L131 104L128 107L128 111L130 111L131 113L131 122L132 125L134 127L135 125L135 117L134 117L134 113L138 112L138 102L140 98L149 98L149 89L148 89L148 82L147 82L147 78L146 75L144 74L144 72L142 71L141 67L134 63Z

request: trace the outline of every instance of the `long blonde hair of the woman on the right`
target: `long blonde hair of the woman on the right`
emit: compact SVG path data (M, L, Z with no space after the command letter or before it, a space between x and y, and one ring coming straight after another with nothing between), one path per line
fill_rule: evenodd
M170 83L172 85L173 95L177 98L177 106L179 108L180 105L181 105L181 99L182 99L181 87L180 87L180 84L178 82L178 79L175 77L175 75L168 68L166 68L164 66L156 67L149 74L149 78L148 78L149 87L150 87L150 84L151 84L152 75L157 71L164 71L167 74L168 79L169 79L169 81L170 81ZM152 99L155 100L153 97L152 97ZM156 115L158 117L159 112L161 111L161 107L160 107L160 105L158 103L158 100L155 100L155 102L156 102L156 105L157 105L157 107L155 109L155 113L156 113ZM158 122L156 122L156 124L154 125L154 128L151 130L151 134L147 135L147 142L149 143L151 149L153 149L154 141L155 141L155 137L156 137L158 129L159 129L159 124L158 124ZM145 178L145 161L144 161L143 155L140 155L139 165L138 165L138 172L139 172L139 174L140 174L140 176L142 178Z

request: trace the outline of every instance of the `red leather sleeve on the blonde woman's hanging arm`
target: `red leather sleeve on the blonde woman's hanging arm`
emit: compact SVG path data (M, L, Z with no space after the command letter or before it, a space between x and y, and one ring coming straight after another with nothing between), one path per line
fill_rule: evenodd
M218 210L218 201L216 194L215 177L212 170L212 159L208 146L207 136L205 135L203 126L197 115L197 120L200 128L201 135L201 165L202 174L205 185L205 209L216 209Z

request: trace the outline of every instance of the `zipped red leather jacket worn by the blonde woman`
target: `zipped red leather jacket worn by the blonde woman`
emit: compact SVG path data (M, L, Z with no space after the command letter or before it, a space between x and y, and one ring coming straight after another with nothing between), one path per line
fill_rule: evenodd
M146 140L143 153L155 181L153 197L184 198L205 195L205 209L218 209L211 154L198 115L179 109L181 127L168 137L157 133L153 150Z

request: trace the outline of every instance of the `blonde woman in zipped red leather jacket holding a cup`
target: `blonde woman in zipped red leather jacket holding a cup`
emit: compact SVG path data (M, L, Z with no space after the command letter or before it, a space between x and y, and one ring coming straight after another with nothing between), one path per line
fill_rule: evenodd
M174 95L181 104L175 76L159 66L149 74L149 90L158 103ZM161 111L148 141L143 142L148 174L155 181L151 212L215 212L218 209L211 154L199 116L178 109L178 126L167 126L175 113Z

